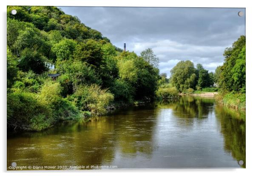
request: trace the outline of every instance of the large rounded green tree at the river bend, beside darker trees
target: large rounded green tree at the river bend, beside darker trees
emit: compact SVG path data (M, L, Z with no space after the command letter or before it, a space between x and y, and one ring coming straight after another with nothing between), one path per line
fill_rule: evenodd
M196 85L196 69L190 60L180 61L171 69L171 83L179 90L184 91Z

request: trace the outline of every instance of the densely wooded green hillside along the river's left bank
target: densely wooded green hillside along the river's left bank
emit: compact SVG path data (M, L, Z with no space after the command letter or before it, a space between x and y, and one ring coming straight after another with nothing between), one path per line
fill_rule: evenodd
M11 14L13 9L17 14ZM151 49L141 56L123 52L57 7L10 6L8 128L42 130L60 120L102 115L111 102L152 99L157 65ZM48 77L57 73L55 80Z

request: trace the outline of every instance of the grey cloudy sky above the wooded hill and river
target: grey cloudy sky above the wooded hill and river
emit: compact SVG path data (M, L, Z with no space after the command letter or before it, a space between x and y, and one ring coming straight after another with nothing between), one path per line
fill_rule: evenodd
M244 8L131 8L60 7L108 37L111 43L138 55L152 48L160 73L180 60L202 63L214 71L224 61L223 51L245 35Z

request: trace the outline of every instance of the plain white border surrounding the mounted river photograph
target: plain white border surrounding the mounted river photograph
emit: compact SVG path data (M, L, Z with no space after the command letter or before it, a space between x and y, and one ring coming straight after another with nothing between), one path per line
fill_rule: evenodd
M139 174L142 172L147 175L161 175L179 174L179 175L219 175L219 174L230 174L232 176L252 175L255 173L255 124L256 115L253 112L255 109L255 97L256 88L255 75L256 75L256 55L255 55L255 16L256 6L253 5L253 0L178 0L178 1L164 1L164 0L9 0L8 2L1 1L1 59L0 59L0 75L1 75L1 159L0 159L0 170L3 175L14 175L15 172L6 172L6 5L54 5L54 6L148 6L148 7L235 7L235 8L246 8L246 36L247 36L247 51L246 51L246 169L173 169L173 170L82 170L76 171L76 175L131 175ZM104 173L103 173L104 172ZM122 173L120 173L122 172ZM34 176L34 172L17 172L20 176ZM42 172L37 171L37 175L71 175L71 172L63 171L51 171Z

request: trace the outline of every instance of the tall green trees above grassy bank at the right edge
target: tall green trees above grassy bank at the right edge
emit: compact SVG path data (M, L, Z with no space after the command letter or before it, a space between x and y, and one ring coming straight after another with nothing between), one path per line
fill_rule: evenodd
M214 75L219 85L217 101L239 110L245 110L245 41L245 36L240 36L232 47L225 49L225 61L216 68Z

